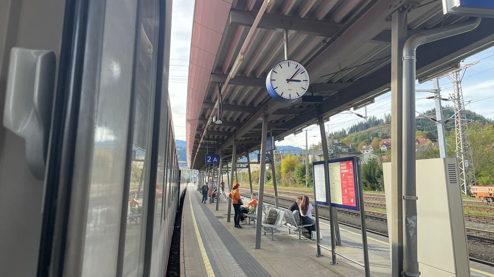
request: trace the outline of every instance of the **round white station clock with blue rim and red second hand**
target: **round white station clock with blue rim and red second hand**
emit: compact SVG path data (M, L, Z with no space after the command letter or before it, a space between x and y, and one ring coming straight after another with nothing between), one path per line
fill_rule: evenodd
M298 62L281 61L269 71L266 88L269 95L280 102L294 102L307 92L309 73Z

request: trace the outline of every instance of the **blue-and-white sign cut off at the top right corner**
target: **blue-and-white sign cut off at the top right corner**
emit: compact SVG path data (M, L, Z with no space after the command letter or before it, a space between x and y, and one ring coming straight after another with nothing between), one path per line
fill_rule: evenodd
M494 17L493 0L443 0L444 14Z

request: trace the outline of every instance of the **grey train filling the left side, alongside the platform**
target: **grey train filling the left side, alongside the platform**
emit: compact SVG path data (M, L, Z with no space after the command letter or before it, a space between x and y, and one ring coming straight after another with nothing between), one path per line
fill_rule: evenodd
M168 95L171 5L0 5L2 276L165 276L187 185Z

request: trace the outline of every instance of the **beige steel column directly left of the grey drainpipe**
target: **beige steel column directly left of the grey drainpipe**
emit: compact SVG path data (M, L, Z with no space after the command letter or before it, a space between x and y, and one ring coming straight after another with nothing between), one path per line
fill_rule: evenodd
M403 270L403 45L407 40L407 12L397 10L391 15L391 275L400 276ZM415 138L415 136L413 136Z

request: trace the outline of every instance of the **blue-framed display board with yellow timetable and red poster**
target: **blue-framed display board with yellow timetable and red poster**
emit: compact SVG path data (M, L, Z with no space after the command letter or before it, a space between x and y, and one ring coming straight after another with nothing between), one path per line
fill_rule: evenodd
M329 160L329 206L359 210L354 157Z

